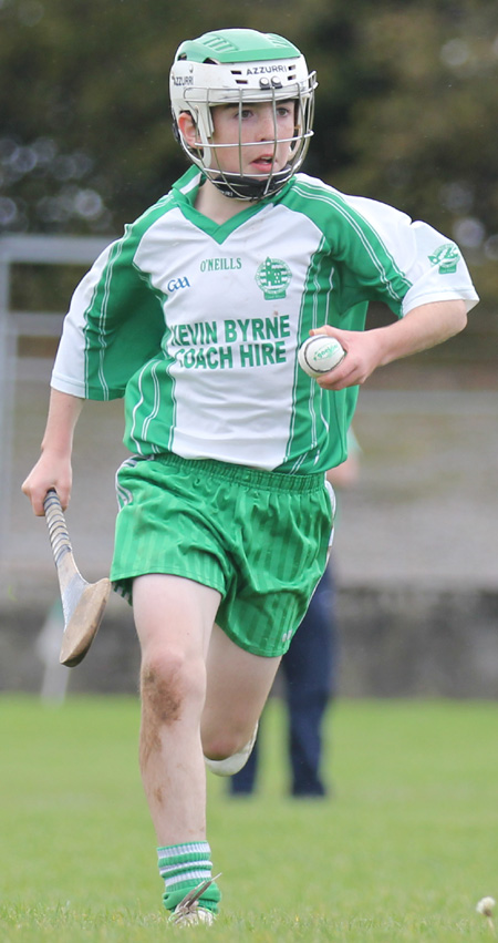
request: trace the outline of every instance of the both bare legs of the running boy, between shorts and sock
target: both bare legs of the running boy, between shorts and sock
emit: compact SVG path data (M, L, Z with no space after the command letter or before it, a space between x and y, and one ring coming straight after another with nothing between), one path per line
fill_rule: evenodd
M141 771L159 845L205 839L203 749L224 759L248 742L280 664L245 652L214 625L219 599L180 576L139 576L133 584Z

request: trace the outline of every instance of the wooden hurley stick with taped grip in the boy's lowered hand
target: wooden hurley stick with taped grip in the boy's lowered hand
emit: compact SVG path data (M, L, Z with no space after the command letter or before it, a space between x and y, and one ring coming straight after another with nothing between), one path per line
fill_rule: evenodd
M43 506L64 615L59 660L61 665L73 668L83 660L95 638L111 592L111 582L107 577L97 583L83 580L74 562L64 514L54 489L46 493Z

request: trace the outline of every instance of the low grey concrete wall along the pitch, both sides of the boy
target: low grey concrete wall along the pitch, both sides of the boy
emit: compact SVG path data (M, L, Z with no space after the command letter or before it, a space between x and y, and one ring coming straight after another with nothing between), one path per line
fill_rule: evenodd
M342 587L338 621L341 696L498 697L498 592ZM43 635L41 629L39 607L3 606L0 691L41 691L50 670L55 694L62 686L71 693L136 693L138 645L122 601L111 606L76 668L56 666L60 625L51 629L49 619Z

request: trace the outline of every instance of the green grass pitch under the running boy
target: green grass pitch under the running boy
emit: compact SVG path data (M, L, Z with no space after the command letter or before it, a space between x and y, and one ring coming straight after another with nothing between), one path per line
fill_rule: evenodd
M138 704L0 698L0 940L176 939L160 908L137 769ZM217 941L492 940L498 898L498 704L342 701L330 714L333 797L286 796L284 715L262 728L258 795L209 778L222 871Z

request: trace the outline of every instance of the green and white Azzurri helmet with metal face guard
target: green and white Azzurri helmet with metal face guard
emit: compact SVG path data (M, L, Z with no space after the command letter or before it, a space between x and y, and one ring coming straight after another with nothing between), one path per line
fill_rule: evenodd
M226 195L261 199L277 193L301 166L312 135L315 73L309 73L299 49L282 37L256 30L218 30L187 40L178 48L169 76L174 127L188 157ZM295 130L290 140L288 165L258 176L232 174L211 166L211 107L221 104L271 102L277 147L276 104L295 101ZM178 117L188 112L197 129L199 146L189 145L178 129ZM255 142L239 141L241 148Z

